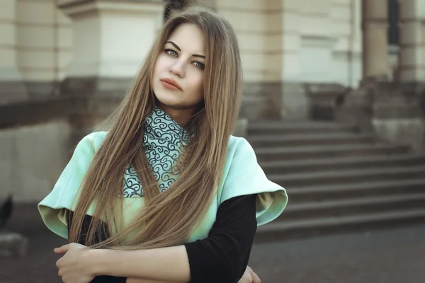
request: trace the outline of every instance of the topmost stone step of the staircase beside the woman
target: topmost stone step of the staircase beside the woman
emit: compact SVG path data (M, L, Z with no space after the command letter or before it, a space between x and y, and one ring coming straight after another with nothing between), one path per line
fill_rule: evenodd
M330 132L357 132L358 128L353 125L345 125L336 122L281 122L262 121L249 122L248 136L264 134L305 134L305 133L330 133Z

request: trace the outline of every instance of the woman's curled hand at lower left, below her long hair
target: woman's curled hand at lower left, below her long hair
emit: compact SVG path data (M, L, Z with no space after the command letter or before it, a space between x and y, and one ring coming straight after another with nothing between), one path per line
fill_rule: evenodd
M89 249L79 243L69 243L60 248L55 248L55 253L64 254L57 260L57 275L62 277L64 283L89 283L95 275L90 270L91 265L87 261Z

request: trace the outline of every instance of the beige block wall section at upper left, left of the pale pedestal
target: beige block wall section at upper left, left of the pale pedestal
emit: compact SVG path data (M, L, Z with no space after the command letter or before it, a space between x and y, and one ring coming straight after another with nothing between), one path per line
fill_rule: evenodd
M72 27L55 0L17 0L16 49L25 81L60 81L72 59Z

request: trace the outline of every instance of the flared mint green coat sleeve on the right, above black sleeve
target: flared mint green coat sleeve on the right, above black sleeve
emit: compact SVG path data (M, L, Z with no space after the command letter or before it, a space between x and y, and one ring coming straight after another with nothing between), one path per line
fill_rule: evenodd
M237 138L229 148L227 175L220 185L219 204L242 195L257 195L256 221L263 225L276 219L288 203L286 190L271 182L257 163L254 149L244 138Z

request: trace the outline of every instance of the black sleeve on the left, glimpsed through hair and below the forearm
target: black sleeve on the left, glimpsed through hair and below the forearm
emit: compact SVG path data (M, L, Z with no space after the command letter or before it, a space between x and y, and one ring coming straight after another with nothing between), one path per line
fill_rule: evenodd
M74 212L69 211L68 235L69 235L69 230L71 227L73 216L74 216ZM80 233L81 236L78 241L78 243L81 243L81 245L84 245L86 242L86 236L89 231L90 221L91 221L91 216L89 215L84 216L83 224L81 225L81 233ZM103 226L106 228L105 223L103 223ZM99 231L108 231L108 229L105 229L105 228L101 227ZM101 241L105 241L106 239L108 239L109 234L98 232L98 233L95 233L95 238L96 238L96 243L100 243ZM125 282L127 282L127 277L115 277L115 276L109 276L109 275L96 276L94 277L93 280L91 280L91 283L125 283Z

